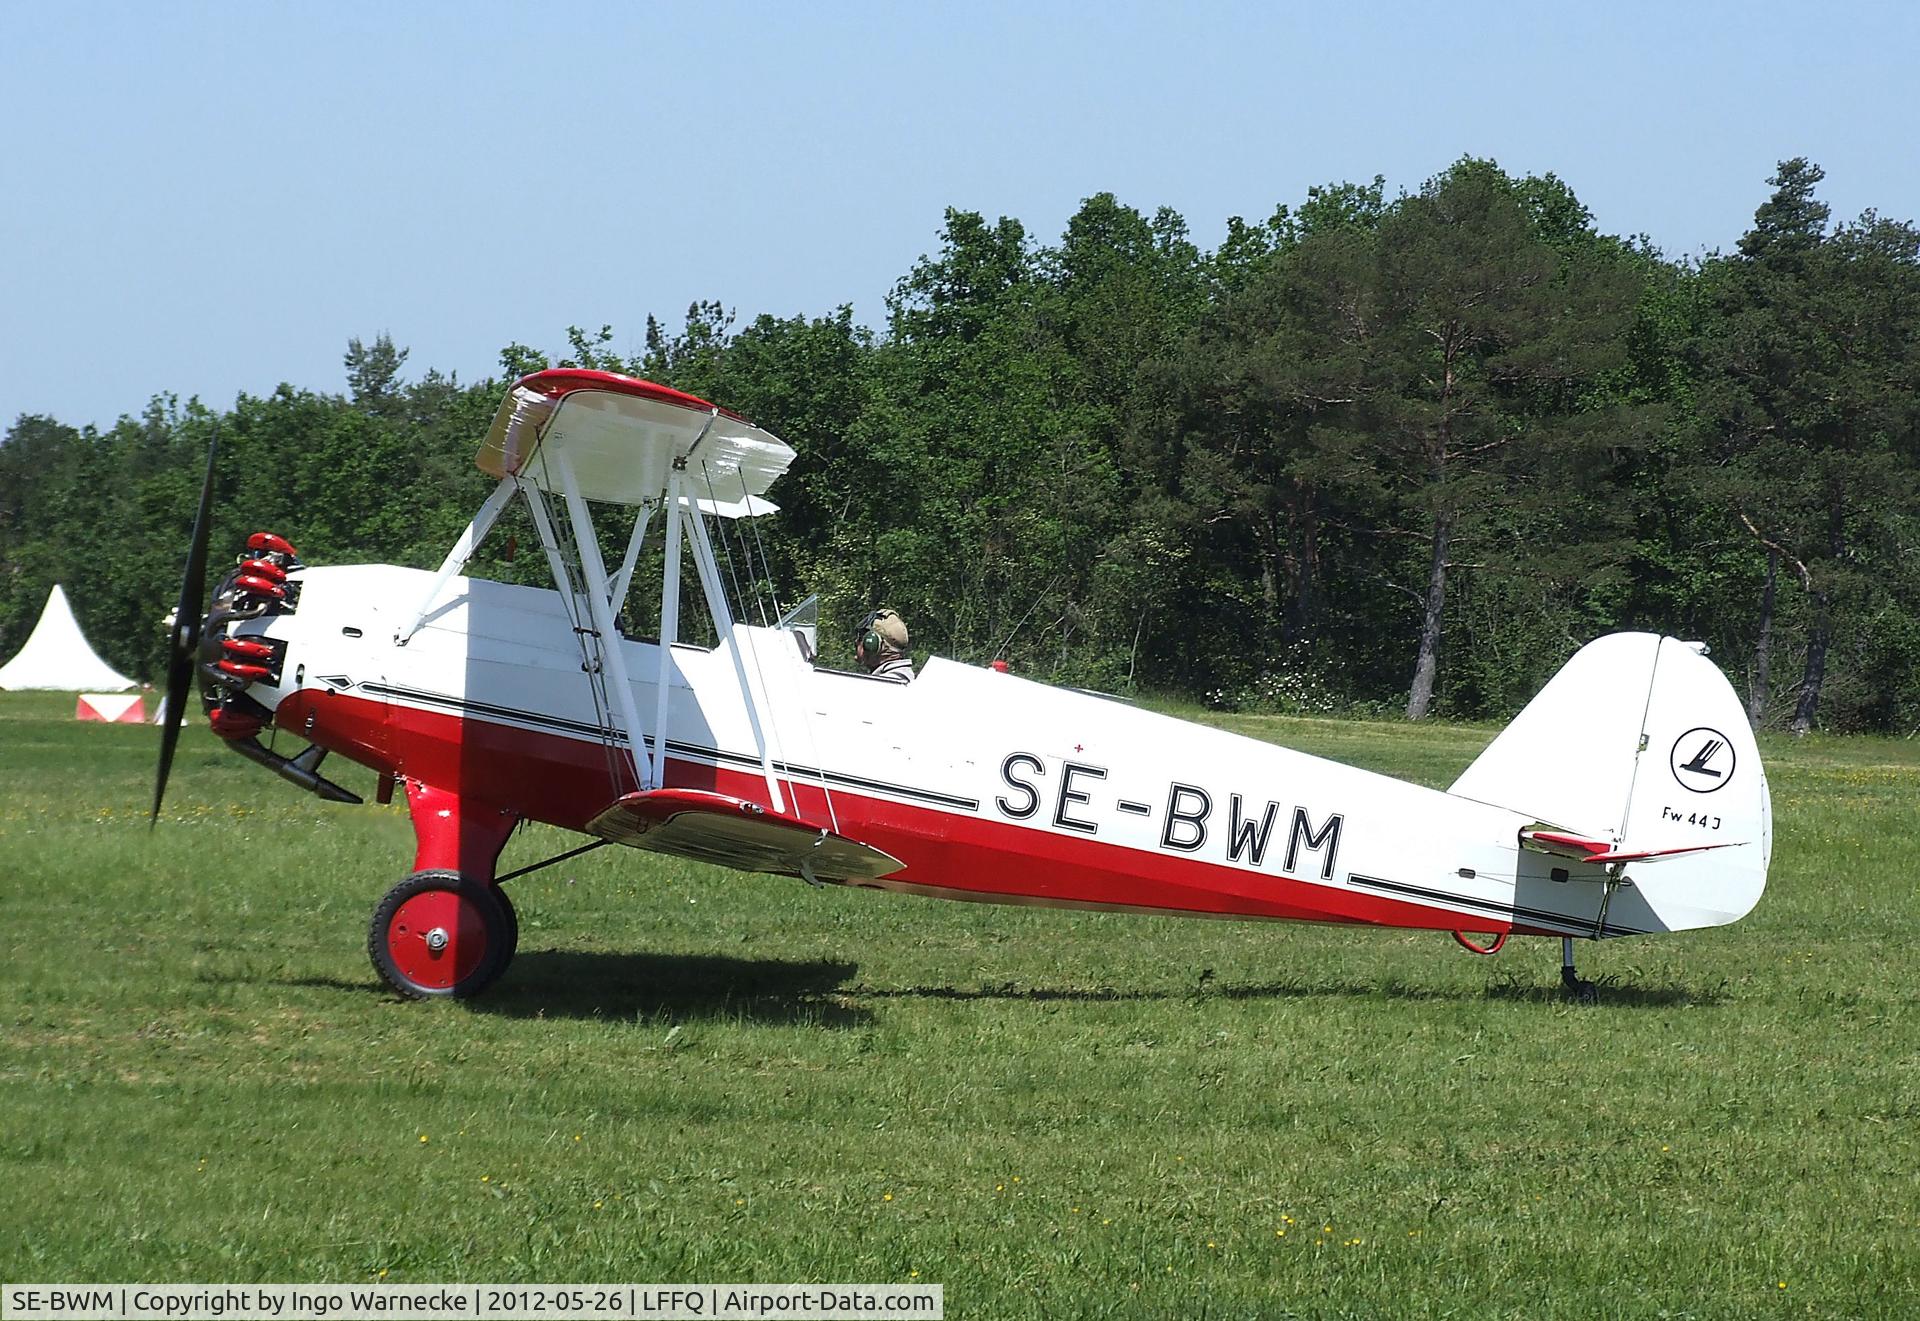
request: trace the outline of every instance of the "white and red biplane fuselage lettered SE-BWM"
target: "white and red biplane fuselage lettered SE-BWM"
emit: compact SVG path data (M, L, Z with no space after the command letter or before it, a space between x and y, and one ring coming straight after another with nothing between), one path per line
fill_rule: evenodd
M561 593L455 578L397 643L432 574L294 576L296 611L234 630L288 645L278 685L250 689L280 728L568 829L636 787L611 680L586 672ZM618 645L647 718L659 647ZM778 799L881 849L902 868L877 887L1542 935L1668 925L1632 887L1601 925L1605 872L1521 849L1524 814L1121 701L943 659L887 684L751 626L714 649L674 645L666 674L664 783Z

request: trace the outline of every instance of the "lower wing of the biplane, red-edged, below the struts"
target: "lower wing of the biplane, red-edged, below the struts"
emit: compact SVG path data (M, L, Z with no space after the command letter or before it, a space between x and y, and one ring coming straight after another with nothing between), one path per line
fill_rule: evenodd
M647 789L616 799L588 824L601 839L808 881L872 881L904 864L799 816L705 789Z

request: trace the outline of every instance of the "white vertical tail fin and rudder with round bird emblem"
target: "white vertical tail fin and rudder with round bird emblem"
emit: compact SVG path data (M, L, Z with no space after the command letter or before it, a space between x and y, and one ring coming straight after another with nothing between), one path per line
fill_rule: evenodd
M1667 929L1736 922L1766 887L1766 772L1734 687L1697 643L1588 643L1452 793L1619 853L1665 854L1630 876Z

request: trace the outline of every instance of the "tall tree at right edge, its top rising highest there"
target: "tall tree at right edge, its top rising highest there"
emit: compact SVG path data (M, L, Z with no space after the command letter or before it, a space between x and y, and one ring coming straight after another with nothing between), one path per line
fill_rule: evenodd
M1695 340L1703 457L1730 518L1764 559L1749 714L1768 699L1776 578L1805 601L1789 728L1807 733L1847 616L1901 572L1889 538L1916 478L1920 232L1862 215L1828 228L1805 157L1782 161L1736 255L1707 273L1715 317Z

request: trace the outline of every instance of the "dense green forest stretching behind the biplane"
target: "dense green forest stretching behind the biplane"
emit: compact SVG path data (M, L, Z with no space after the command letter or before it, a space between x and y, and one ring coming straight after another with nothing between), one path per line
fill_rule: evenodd
M1398 196L1311 188L1212 252L1112 194L1056 242L950 209L879 328L714 300L649 315L636 357L570 328L461 382L380 334L348 342L344 392L21 415L0 657L61 582L111 664L159 672L215 428L217 557L269 528L307 563L436 566L507 384L580 365L797 449L756 549L781 601L822 593L829 659L889 605L922 657L1058 684L1500 718L1580 643L1659 630L1707 641L1755 726L1910 735L1920 230L1836 221L1820 182L1782 161L1701 259L1473 157ZM543 580L522 540L470 572Z

